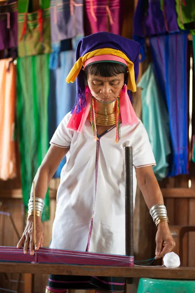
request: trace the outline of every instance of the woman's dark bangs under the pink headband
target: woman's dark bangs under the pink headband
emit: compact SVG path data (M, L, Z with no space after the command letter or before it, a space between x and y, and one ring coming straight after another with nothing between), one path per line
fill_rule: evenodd
M86 75L100 75L102 77L112 77L117 74L127 74L127 66L120 63L98 62L87 65Z

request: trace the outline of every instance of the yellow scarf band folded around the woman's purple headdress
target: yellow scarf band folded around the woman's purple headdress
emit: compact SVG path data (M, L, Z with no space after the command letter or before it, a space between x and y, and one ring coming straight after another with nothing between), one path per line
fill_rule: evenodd
M123 58L127 64L128 64L128 70L129 70L129 79L127 84L127 89L130 89L132 92L136 91L136 84L135 84L135 74L134 74L134 64L130 61L130 59L120 50L115 50L111 48L103 48L103 49L97 49L92 52L86 53L83 57L80 57L77 62L74 64L72 69L70 70L68 76L66 77L66 83L74 83L76 80L80 70L86 63L86 61L94 56L100 56L100 55L114 55L118 56L120 58Z

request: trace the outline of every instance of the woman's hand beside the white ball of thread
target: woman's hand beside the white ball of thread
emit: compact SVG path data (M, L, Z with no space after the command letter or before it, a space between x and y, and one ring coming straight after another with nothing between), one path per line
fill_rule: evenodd
M161 258L166 253L171 252L175 246L175 242L167 222L159 223L157 229L155 259Z

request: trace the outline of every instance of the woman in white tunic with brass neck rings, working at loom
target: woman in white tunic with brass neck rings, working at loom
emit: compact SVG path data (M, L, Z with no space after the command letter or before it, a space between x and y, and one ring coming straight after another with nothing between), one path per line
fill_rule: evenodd
M36 176L37 241L43 246L43 199L55 170L66 155L57 192L51 248L125 254L124 146L133 148L133 193L136 179L157 226L156 258L173 249L163 197L152 171L155 165L147 132L136 117L128 90L135 91L139 44L110 34L82 39L77 62L66 81L77 78L77 99L57 128ZM32 235L32 194L26 229L18 244L24 253ZM75 283L76 281L76 283ZM67 286L68 284L68 286ZM123 291L123 278L50 275L46 292L66 289Z

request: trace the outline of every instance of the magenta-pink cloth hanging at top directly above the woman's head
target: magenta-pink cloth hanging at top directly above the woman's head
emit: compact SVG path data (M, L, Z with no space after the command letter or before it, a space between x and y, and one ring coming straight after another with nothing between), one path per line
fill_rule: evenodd
M123 0L86 0L86 35L98 32L121 34Z

